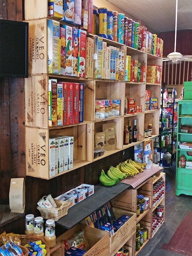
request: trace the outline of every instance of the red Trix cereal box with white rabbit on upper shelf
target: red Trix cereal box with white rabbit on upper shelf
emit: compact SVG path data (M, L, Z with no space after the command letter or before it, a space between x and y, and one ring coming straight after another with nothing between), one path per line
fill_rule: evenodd
M78 76L85 77L86 31L79 29Z

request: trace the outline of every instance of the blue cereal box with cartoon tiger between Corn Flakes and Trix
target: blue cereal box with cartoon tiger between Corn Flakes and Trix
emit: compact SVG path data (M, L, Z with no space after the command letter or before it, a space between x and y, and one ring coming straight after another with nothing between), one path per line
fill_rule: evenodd
M79 30L73 28L73 37L72 37L72 76L78 75L78 55L79 55Z

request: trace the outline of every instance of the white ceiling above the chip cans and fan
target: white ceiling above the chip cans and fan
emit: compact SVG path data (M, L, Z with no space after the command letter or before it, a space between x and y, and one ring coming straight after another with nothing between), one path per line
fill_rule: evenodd
M176 0L108 0L157 32L175 30ZM192 29L192 0L178 0L177 29Z

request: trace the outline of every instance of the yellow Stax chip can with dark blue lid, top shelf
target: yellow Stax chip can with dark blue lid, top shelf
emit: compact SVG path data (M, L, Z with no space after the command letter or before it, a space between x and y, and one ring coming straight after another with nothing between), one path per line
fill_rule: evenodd
M108 9L101 7L98 9L99 12L99 36L107 37L107 13Z

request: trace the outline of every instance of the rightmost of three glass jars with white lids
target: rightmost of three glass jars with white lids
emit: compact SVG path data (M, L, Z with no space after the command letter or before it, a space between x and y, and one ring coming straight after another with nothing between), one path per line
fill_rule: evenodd
M55 246L56 236L55 236L55 221L54 220L46 220L44 239L50 248L53 248Z

